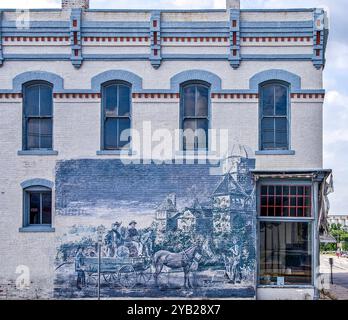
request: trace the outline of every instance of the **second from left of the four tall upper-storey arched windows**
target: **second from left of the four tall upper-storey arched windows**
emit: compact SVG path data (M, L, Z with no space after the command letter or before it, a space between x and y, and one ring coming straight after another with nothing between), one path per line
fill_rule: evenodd
M130 143L121 134L131 128L131 86L124 82L109 82L103 86L102 149L120 150Z

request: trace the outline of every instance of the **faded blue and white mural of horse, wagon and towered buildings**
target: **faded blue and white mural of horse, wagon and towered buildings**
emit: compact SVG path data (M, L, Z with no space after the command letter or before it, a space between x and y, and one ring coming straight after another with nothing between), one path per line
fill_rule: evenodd
M55 296L255 297L254 166L59 162Z

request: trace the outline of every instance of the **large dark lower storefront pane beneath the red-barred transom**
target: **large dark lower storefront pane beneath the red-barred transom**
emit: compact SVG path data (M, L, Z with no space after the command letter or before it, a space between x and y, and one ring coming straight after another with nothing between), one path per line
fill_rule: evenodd
M260 285L311 285L310 222L260 222Z

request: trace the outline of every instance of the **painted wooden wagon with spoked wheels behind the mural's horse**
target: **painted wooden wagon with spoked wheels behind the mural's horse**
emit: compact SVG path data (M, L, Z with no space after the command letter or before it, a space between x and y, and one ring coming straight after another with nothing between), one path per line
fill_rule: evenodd
M84 258L84 272L88 286L97 285L98 268L97 257ZM151 260L147 257L102 257L100 276L110 286L120 285L122 288L132 289L137 284L146 284L150 281Z

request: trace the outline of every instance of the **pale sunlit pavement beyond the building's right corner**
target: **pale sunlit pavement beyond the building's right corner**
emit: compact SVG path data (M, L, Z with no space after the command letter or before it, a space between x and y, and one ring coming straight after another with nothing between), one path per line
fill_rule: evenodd
M337 258L336 256L320 256L320 272L330 279L329 258L334 259L333 282L330 284L330 295L337 300L348 300L348 258Z

